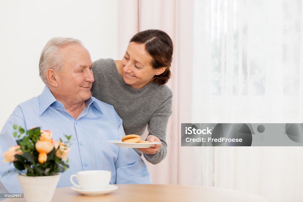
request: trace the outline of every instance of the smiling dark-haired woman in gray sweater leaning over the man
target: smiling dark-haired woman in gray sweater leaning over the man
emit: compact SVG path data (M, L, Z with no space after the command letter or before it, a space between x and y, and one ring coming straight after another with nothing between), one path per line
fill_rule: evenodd
M137 151L157 164L167 153L166 127L171 115L170 78L173 44L161 30L145 30L130 40L122 60L94 62L92 95L114 106L123 120L125 134L142 135L161 144Z

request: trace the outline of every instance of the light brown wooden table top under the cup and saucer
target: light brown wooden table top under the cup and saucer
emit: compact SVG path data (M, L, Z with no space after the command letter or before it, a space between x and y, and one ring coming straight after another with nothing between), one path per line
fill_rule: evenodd
M117 190L102 196L85 196L78 194L70 187L57 188L53 202L266 202L267 200L255 194L242 191L214 187L184 186L169 184L117 184ZM25 201L25 199L5 199L3 202Z

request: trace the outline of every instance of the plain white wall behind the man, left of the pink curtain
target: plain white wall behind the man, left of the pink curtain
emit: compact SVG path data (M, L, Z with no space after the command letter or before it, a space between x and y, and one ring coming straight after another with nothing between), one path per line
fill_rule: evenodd
M0 1L0 129L18 103L42 92L45 43L80 39L92 61L118 57L118 0Z

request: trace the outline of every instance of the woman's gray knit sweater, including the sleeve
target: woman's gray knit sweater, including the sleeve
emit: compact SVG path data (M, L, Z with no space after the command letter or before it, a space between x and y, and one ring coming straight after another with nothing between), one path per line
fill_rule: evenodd
M155 154L143 155L152 164L160 163L167 153L166 127L171 116L171 89L155 82L140 89L132 88L122 79L113 59L95 61L93 72L95 82L92 85L92 96L114 106L122 118L126 135L142 135L148 126L148 133L157 136L162 146Z

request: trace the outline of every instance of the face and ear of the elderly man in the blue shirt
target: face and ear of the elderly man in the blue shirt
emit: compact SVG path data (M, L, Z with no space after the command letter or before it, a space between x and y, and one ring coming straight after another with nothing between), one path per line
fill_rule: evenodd
M81 45L72 44L60 49L62 71L57 73L57 92L69 104L83 103L91 96L92 60Z

